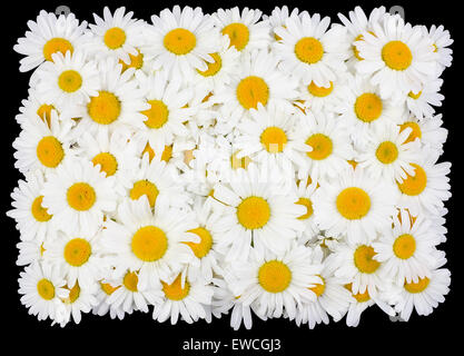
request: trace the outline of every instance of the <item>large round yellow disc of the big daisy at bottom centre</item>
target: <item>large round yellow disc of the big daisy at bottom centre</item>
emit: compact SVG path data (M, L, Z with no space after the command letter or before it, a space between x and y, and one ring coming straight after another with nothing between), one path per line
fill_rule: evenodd
M259 267L258 281L263 289L269 293L280 293L290 285L292 271L284 263L269 260Z

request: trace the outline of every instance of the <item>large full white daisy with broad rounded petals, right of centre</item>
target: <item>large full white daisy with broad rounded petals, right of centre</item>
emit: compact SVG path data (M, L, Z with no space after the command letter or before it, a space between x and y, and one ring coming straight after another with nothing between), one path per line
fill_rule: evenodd
M368 243L391 226L397 194L394 185L367 177L362 168L348 169L338 180L319 181L314 194L316 224L326 235Z

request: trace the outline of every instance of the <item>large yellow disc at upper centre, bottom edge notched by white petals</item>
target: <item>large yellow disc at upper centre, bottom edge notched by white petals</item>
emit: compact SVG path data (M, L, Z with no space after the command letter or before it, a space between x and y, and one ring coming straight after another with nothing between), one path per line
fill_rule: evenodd
M267 105L269 99L269 87L263 78L250 76L237 86L237 100L247 110L257 109L258 103Z

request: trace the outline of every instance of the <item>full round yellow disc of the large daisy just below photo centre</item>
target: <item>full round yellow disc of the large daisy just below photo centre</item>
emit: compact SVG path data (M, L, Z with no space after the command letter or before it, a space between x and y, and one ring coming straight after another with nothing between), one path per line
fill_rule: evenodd
M237 207L238 222L247 229L259 229L269 221L270 207L261 197L248 197Z

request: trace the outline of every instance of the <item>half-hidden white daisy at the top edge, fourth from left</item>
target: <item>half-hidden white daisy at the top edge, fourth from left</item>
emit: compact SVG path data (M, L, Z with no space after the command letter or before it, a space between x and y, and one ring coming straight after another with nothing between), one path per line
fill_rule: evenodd
M211 14L211 19L223 36L229 38L230 46L239 52L246 52L267 48L270 42L269 23L260 20L261 14L260 10L248 8L244 8L240 13L235 7L218 9Z

